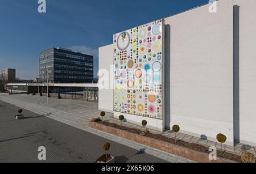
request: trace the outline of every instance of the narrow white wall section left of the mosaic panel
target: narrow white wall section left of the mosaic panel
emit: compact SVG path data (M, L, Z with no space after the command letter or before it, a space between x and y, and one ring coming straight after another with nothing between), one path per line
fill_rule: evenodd
M106 112L110 112L113 113L113 104L114 104L114 91L113 89L110 89L113 84L111 84L113 81L111 80L111 78L113 79L112 75L110 74L112 73L113 70L111 70L111 66L113 66L113 45L108 45L108 46L103 46L101 48L99 48L98 50L98 57L99 57L99 70L105 70L106 73L109 73L109 78L108 78L108 85L106 85L105 89L101 89L101 87L99 86L99 91L98 91L98 95L99 95L99 101L98 101L98 109L100 111L106 111ZM101 77L99 77L100 79ZM104 85L105 85L104 84ZM102 84L98 84L98 85L102 85Z

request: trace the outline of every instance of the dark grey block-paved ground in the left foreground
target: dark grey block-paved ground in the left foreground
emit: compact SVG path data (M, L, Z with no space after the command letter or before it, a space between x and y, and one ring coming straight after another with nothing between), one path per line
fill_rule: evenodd
M143 148L138 151L27 110L23 111L25 119L15 120L19 108L3 101L0 104L0 163L41 162L40 146L46 147L45 162L93 163L104 154L104 142L110 142L109 153L116 162L166 162L146 154Z

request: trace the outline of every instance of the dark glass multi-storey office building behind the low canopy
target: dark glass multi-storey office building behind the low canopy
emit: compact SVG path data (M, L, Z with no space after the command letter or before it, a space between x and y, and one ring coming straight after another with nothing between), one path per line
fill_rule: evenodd
M39 55L40 83L92 83L93 56L64 48L51 48Z

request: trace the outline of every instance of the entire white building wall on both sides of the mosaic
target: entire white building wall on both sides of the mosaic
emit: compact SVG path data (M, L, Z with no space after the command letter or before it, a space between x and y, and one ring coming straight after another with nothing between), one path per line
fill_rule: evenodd
M166 128L256 144L255 3L220 0L217 13L205 5L165 19ZM100 48L100 69L110 70L112 50ZM113 91L99 95L100 110L113 112Z

